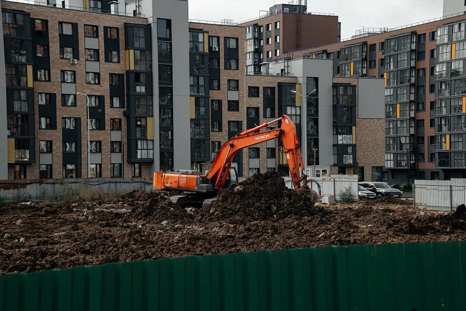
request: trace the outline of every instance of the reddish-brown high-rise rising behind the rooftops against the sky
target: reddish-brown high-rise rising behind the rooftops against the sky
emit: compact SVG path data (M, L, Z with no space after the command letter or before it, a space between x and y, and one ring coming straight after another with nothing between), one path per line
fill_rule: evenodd
M274 5L267 14L238 25L246 29L247 75L266 74L267 63L290 51L340 41L338 16L307 12L307 5L301 1Z

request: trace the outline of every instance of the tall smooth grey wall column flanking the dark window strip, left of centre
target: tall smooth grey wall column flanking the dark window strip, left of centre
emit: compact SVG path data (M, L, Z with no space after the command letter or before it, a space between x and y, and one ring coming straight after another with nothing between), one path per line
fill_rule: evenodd
M144 7L145 8L145 7ZM152 2L152 59L158 63L157 18L172 20L173 57L173 147L174 167L190 169L190 125L189 125L189 25L188 2L184 0L156 0ZM159 76L153 75L154 83L154 170L160 170L159 148Z

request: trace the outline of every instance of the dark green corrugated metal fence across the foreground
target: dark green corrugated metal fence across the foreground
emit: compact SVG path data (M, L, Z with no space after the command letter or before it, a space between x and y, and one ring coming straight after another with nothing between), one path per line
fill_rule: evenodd
M237 253L11 274L0 311L465 310L466 242Z

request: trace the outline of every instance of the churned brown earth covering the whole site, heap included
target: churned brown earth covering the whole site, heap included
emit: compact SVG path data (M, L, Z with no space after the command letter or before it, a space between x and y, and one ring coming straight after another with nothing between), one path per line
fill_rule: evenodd
M111 201L0 204L0 275L110 262L286 248L466 239L466 214L411 200L310 206L275 172L221 191L209 208L167 193Z

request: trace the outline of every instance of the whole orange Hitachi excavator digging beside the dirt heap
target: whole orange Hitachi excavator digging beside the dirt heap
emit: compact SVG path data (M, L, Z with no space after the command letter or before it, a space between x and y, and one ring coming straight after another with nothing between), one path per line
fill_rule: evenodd
M281 121L280 128L260 131L277 121ZM200 171L183 169L154 172L153 189L181 192L170 197L179 206L210 205L216 200L220 189L239 182L237 168L231 166L235 154L242 149L275 139L282 141L294 189L314 205L319 195L310 190L307 183L315 181L308 180L305 175L296 126L287 115L236 134L219 149L205 175Z

